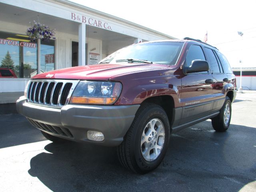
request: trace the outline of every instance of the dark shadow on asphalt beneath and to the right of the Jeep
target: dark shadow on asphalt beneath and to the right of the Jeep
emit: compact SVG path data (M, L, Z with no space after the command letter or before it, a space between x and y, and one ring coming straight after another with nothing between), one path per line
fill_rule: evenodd
M255 135L256 128L230 125L218 133L202 122L172 135L164 161L145 175L122 168L116 148L50 143L28 173L56 192L238 191L255 180Z

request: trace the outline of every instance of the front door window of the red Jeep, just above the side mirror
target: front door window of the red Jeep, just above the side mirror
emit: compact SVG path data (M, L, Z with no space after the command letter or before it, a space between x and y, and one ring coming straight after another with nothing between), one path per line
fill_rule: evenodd
M190 66L193 60L206 60L204 52L199 45L192 45L186 56L186 66Z

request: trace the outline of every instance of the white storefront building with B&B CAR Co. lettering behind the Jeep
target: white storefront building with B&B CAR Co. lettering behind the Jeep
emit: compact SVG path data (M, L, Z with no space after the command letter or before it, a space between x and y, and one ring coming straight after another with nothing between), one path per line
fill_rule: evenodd
M55 40L30 42L26 30L39 22ZM175 39L66 0L0 0L0 67L9 54L18 78L0 78L1 92L22 92L31 76L98 63L137 42Z

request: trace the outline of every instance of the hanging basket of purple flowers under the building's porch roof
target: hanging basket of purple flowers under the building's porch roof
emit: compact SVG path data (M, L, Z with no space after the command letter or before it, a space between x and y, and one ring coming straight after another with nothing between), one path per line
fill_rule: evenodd
M51 30L48 26L44 24L36 23L27 29L26 34L28 39L32 42L35 42L37 39L42 39L43 41L48 41L52 38L55 39L55 32Z

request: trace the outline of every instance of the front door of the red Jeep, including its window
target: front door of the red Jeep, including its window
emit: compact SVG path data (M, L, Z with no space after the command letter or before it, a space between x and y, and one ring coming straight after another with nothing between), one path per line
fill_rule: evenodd
M206 60L199 45L190 46L184 66L190 66L193 60ZM181 78L181 82L183 111L180 124L206 116L212 109L212 74L209 71L187 74Z

